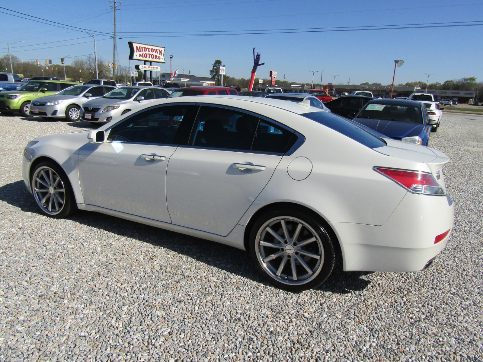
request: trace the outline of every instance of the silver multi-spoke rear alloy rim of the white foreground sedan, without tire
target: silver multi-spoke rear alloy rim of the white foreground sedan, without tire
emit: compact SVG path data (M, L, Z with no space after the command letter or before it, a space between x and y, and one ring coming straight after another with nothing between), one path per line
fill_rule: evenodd
M324 265L324 247L315 230L291 216L277 216L264 223L255 240L261 267L278 282L288 285L313 280Z

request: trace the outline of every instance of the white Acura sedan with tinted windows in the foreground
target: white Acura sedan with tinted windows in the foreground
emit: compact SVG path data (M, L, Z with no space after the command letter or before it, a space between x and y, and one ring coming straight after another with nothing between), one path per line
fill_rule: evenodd
M30 141L23 178L48 216L92 210L244 249L291 291L324 282L338 259L423 270L453 226L449 158L362 127L303 102L163 99Z

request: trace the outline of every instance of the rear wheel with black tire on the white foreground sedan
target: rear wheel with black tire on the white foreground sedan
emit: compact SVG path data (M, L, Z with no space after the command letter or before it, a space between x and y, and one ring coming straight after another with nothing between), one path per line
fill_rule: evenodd
M290 239L288 242L284 237L282 220ZM298 238L292 240L298 227ZM269 228L279 237L271 234ZM307 242L312 238L313 241ZM297 240L305 242L297 246L297 242L301 244ZM260 241L270 246L260 245ZM313 214L297 208L272 209L253 224L248 249L256 268L271 284L291 292L302 292L319 286L329 277L336 259L334 242ZM273 257L275 254L278 256Z

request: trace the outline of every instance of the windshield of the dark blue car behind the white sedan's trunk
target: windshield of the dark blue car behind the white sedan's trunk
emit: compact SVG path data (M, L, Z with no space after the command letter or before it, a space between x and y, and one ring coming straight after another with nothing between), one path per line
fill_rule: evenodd
M423 123L421 109L413 105L392 105L368 103L357 114L357 118L381 119L385 121L399 121L409 123Z

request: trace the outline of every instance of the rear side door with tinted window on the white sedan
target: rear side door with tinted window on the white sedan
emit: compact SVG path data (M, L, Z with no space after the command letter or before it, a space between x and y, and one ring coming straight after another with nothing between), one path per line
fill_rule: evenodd
M170 158L172 223L228 235L270 180L292 136L256 114L202 105L188 144Z

